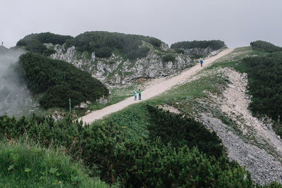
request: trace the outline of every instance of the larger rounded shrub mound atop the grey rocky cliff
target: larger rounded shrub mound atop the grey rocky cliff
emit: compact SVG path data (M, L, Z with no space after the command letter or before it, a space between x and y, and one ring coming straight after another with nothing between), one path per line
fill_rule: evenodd
M141 35L125 35L117 32L85 32L66 42L66 46L75 46L78 51L92 51L100 58L111 56L119 51L126 58L135 59L147 56L149 48L142 46L142 41L160 46L161 41ZM141 46L141 47L140 47Z

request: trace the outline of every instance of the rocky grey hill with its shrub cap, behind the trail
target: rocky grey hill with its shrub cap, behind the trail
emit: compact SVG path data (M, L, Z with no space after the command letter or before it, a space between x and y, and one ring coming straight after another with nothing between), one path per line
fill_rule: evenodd
M37 35L27 35L25 38L35 36L37 39ZM66 36L63 39L65 38ZM22 43L18 42L17 45ZM64 44L43 39L40 44L49 50L49 54L47 52L41 54L72 63L109 87L121 87L142 79L180 73L180 70L193 65L195 58L198 58L195 56L191 58L178 49L170 49L168 45L154 37L116 32L85 32L66 39ZM200 48L197 46L194 50L202 51L203 56L208 56L212 52L218 53L219 49L214 50L211 45L213 44L208 43Z

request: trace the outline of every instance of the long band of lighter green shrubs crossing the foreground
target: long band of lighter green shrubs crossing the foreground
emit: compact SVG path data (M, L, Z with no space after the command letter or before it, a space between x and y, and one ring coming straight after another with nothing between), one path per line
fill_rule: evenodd
M154 113L152 122L157 116L171 117L153 107L150 111ZM180 126L180 122L171 126L187 130L187 124ZM195 128L191 132L204 129L192 120L189 122L200 126L199 130ZM180 144L185 137L175 137L173 142L163 139L166 137L149 141L132 139L125 130L126 127L111 121L82 127L71 118L54 122L51 118L16 120L6 115L0 117L1 135L9 139L25 135L44 146L63 146L67 153L89 165L94 174L99 174L107 182L121 182L125 187L254 187L250 174L240 165L228 163L223 156L216 159L207 157L196 148L189 149L185 143ZM163 129L164 134L168 132ZM164 144L163 140L169 143ZM202 142L209 144L211 140ZM194 144L197 146L196 142Z

